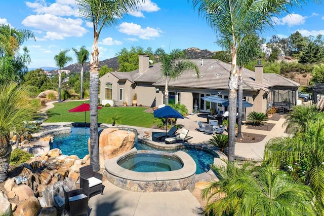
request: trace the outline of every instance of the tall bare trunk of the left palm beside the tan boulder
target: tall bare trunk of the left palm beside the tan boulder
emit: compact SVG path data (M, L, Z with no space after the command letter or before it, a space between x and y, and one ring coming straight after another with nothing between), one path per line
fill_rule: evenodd
M90 163L93 171L99 170L98 93L99 93L98 33L95 32L90 60Z

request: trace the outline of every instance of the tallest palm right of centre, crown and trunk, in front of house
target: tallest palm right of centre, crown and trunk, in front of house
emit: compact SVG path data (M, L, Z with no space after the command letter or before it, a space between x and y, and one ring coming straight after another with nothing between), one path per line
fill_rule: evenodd
M189 0L188 0L189 1ZM294 1L207 1L193 0L193 8L203 14L209 25L219 35L218 44L229 48L231 53L231 71L229 75L229 139L228 160L234 161L236 98L238 81L242 80L236 68L237 50L248 35L261 32L264 27L271 26L271 18ZM239 78L240 77L240 78Z

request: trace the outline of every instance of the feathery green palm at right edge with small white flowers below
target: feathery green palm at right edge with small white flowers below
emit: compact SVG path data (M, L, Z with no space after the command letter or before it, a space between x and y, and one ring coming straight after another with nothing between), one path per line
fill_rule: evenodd
M310 186L316 197L315 206L324 214L324 119L308 121L303 133L270 139L263 158Z

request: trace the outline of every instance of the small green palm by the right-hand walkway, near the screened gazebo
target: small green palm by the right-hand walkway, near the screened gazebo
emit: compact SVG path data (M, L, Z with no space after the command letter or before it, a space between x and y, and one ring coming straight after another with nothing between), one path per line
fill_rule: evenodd
M287 125L287 129L295 134L302 133L308 127L309 122L315 122L323 117L323 113L318 112L315 105L294 106L284 125Z

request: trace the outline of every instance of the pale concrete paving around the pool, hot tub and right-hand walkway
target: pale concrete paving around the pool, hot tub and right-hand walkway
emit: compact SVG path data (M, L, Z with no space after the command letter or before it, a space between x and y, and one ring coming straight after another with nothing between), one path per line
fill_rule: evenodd
M48 107L43 109L46 111L53 107L52 101ZM182 125L189 130L188 135L192 136L189 140L191 144L204 145L208 143L211 135L206 135L203 132L196 130L198 128L197 121L206 122L206 118L199 115L189 115L184 119L178 119L177 124ZM242 132L247 133L261 133L266 137L257 143L236 143L235 156L239 158L260 160L262 158L264 146L266 142L277 136L287 136L285 128L282 128L282 123L285 121L281 118L279 121L269 121L276 125L271 131L260 131L247 129L247 126L242 126ZM49 125L50 123L44 124ZM148 131L150 136L152 131L158 131L152 128L135 127L139 133ZM104 182L104 195L96 195L89 200L90 215L202 215L203 207L198 200L186 191L177 192L155 192L155 193L141 193L131 192L118 188L110 182Z

